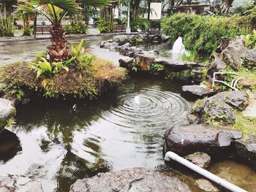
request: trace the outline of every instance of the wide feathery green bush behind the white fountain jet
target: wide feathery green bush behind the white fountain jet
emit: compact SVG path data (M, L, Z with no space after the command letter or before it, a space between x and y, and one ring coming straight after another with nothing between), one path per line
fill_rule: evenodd
M246 22L245 22L246 21ZM248 19L233 17L208 17L175 14L162 20L162 31L174 42L182 37L187 49L211 55L221 42L221 37L235 37L250 31Z

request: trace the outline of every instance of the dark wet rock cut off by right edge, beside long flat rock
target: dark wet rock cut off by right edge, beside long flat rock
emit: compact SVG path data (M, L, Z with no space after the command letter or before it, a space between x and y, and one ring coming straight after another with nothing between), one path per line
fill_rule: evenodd
M256 136L250 135L246 139L236 140L235 146L238 157L256 169Z

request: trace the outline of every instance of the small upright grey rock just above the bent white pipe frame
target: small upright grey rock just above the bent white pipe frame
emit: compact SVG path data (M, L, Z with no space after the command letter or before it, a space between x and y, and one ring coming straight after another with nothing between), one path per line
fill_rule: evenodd
M212 82L214 72L222 71L227 67L227 64L225 64L225 62L222 61L222 58L220 58L219 54L212 55L209 63L211 64L211 66L209 67L206 73L206 79Z

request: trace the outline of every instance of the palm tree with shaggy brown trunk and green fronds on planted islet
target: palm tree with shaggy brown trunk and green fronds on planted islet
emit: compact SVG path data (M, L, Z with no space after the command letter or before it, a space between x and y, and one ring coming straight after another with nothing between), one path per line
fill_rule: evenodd
M65 61L70 58L67 39L61 20L65 15L80 14L78 3L89 4L95 7L108 6L109 0L29 0L26 7L34 7L40 14L44 15L52 24L50 30L51 45L47 47L50 61ZM21 8L21 7L20 7Z

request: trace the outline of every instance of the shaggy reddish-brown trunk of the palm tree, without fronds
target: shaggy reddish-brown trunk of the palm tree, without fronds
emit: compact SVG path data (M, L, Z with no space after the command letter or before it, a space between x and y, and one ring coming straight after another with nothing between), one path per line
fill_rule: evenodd
M50 61L59 62L69 59L70 54L64 29L61 26L53 26L50 30L50 35L52 44L47 47Z

